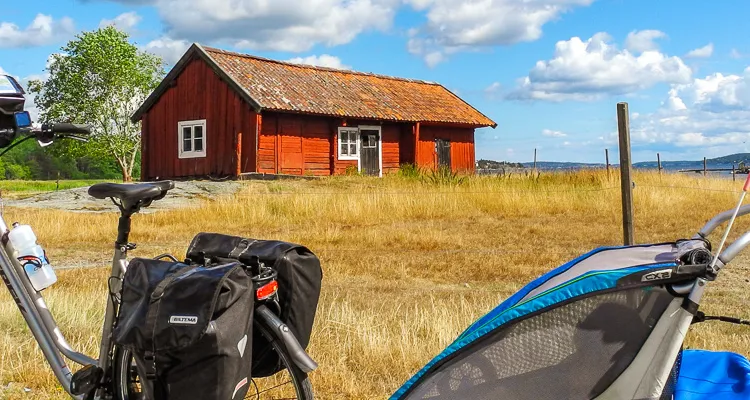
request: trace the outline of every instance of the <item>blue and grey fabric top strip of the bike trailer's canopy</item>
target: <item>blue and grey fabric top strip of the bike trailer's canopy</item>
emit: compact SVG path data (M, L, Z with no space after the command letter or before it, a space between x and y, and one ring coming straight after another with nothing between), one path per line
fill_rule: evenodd
M661 251L661 250L671 249L671 245L659 244L659 245L642 245L642 246L629 246L629 247L622 247L622 246L603 247L603 248L593 250L587 254L584 254L542 275L541 277L537 278L536 280L526 285L523 289L521 289L519 292L517 292L516 294L508 298L506 301L501 303L497 308L492 310L490 313L488 313L484 317L480 318L477 322L472 324L447 349L445 349L442 353L440 353L437 357L435 357L432 361L430 361L424 368L422 368L411 379L409 379L398 391L396 391L390 397L390 400L401 399L435 365L440 363L446 357L451 356L452 354L456 353L457 351L461 350L467 345L473 343L474 341L480 339L486 334L492 332L493 330L500 327L501 325L504 325L513 320L519 319L521 317L524 317L536 311L543 310L547 307L554 306L555 304L559 304L559 303L565 302L573 298L585 296L590 293L595 293L595 292L599 292L603 290L613 289L617 286L618 280L625 276L635 274L638 272L642 272L645 270L674 268L677 266L677 263L674 261L675 258L673 254L671 258L672 261L670 262L661 262L661 263L655 262L655 260L662 259L660 256L657 256L655 258L651 258L650 259L651 262L648 262L647 260L644 259L643 260L644 262L641 264L636 264L633 266L625 266L625 267L621 267L617 269L611 269L609 268L610 267L609 265L607 265L606 263L603 263L599 267L600 269L591 268L585 272L581 271L582 273L573 279L567 280L561 284L558 284L557 286L554 286L553 288L549 290L544 290L539 294L526 298L535 289L546 284L553 278L558 277L559 275L572 270L577 265L581 264L582 262L585 262L587 259L591 258L594 255L597 255L599 253L609 251L609 250L614 250L616 253L617 250L621 250L621 249L627 250L627 249L635 249L635 248L644 249L644 252L648 252L649 251L648 248L651 248L652 250L658 248L658 250ZM669 253L669 250L666 250L666 253ZM661 255L666 255L666 254L661 253ZM651 257L651 255L649 255L649 257Z

